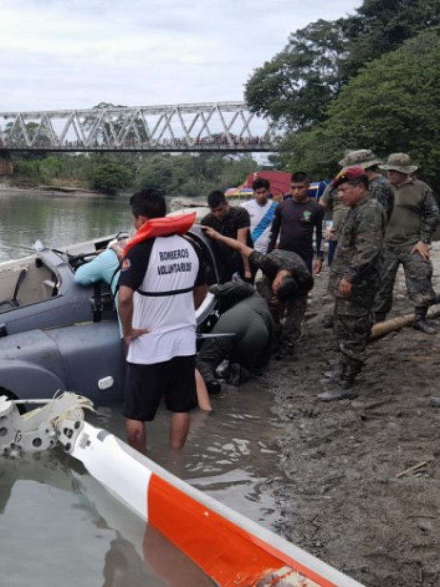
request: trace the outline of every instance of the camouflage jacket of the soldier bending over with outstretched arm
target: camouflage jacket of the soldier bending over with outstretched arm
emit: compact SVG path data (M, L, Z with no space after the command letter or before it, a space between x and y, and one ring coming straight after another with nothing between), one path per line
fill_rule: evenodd
M250 255L250 262L261 269L268 286L272 286L276 274L282 269L292 271L292 277L298 281L298 295L307 294L314 286L314 278L311 277L307 265L291 250L276 248L267 255L254 250Z

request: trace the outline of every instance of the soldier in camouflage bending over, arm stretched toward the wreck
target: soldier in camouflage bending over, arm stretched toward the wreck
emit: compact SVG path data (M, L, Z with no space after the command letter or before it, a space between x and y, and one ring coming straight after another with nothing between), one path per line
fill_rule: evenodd
M212 228L204 228L214 240L239 251L249 257L255 269L261 269L263 284L261 294L267 301L275 322L277 359L283 359L292 352L301 333L307 294L314 286L314 279L305 262L299 255L289 250L275 249L263 255L234 239L224 237Z

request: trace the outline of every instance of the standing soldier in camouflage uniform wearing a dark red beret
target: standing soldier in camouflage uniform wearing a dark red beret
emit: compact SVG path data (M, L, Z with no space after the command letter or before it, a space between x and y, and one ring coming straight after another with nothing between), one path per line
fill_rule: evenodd
M321 401L357 396L355 378L362 371L369 341L386 224L382 204L368 191L362 167L349 167L333 180L339 197L350 206L340 230L331 265L329 289L336 295L333 328L341 352L340 368L329 374Z

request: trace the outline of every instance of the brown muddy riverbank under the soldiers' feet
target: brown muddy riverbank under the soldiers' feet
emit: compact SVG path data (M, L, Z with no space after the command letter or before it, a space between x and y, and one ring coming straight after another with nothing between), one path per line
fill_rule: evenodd
M433 257L439 275L438 244ZM406 328L371 343L359 397L320 403L338 356L322 327L327 277L316 279L296 356L273 361L262 382L283 423L289 479L272 483L289 504L276 530L368 587L438 587L440 408L430 397L440 396L440 319L434 336ZM393 314L411 309L400 274Z

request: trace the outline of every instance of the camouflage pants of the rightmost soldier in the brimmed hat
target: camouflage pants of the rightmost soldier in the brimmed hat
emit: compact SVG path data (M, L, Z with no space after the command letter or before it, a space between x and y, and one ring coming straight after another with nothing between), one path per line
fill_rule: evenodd
M432 289L432 263L418 253L401 253L384 248L382 255L382 286L375 299L375 313L388 314L393 307L393 288L397 269L402 264L408 297L415 308L428 308L435 301Z

